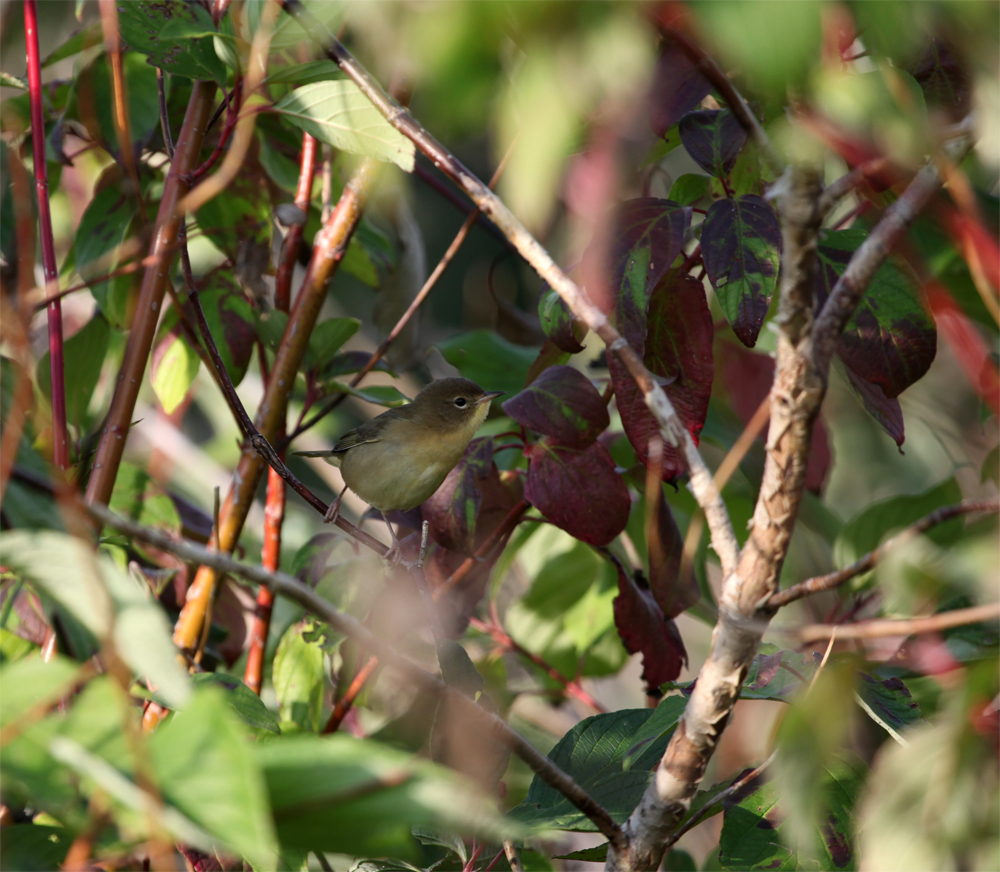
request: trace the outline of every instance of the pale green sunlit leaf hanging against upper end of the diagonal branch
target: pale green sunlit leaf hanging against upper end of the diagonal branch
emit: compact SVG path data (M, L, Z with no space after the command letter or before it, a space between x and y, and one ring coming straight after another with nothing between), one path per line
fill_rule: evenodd
M413 143L382 117L353 82L304 85L279 100L274 111L322 142L413 171Z

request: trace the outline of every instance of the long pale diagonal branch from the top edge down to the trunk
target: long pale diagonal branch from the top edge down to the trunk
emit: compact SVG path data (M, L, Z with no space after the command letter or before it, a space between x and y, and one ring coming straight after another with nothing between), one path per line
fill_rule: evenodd
M329 29L307 12L299 0L281 0L284 9L302 24L307 33L317 37L323 34L323 47L327 56L335 61L382 113L393 127L411 139L446 175L455 181L480 211L489 218L510 240L518 253L534 268L565 301L573 313L593 330L607 345L608 351L617 354L642 391L646 405L660 427L660 435L670 445L678 446L684 455L691 474L691 490L705 512L712 532L712 544L719 555L723 571L728 575L736 565L738 546L732 523L722 496L712 481L705 461L691 434L678 417L667 395L652 378L634 349L608 321L604 313L564 273L551 255L528 232L524 225L490 189L483 184L458 158L437 141L427 130L389 97L368 72L354 59Z

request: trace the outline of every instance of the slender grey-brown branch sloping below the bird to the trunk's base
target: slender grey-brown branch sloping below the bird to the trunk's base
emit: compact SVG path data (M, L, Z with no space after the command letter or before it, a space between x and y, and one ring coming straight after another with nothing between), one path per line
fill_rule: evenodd
M100 523L126 536L147 542L157 548L180 557L182 560L210 566L213 572L239 575L248 581L269 587L275 595L284 596L316 617L328 623L335 630L350 636L366 650L374 652L386 666L398 669L420 687L434 694L449 694L452 701L464 706L474 723L482 724L497 739L517 754L546 784L565 796L574 806L594 822L597 828L615 845L622 844L622 831L607 810L591 797L569 775L543 756L521 735L512 730L499 717L485 711L474 700L450 688L440 679L421 669L400 654L393 646L382 641L360 621L335 608L308 585L283 572L268 572L259 566L252 566L234 560L219 551L210 551L199 545L178 541L168 533L143 527L112 513L106 506L91 504L87 511Z

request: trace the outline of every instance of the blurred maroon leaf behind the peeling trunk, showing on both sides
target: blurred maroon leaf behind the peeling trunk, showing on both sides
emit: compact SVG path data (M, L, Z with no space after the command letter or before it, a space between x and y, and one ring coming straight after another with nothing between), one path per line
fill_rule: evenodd
M750 423L757 407L771 390L774 381L774 358L755 354L730 342L721 343L718 350L722 381L729 394L729 404L744 426ZM767 441L767 427L759 437ZM830 443L822 418L813 425L812 444L806 463L806 490L819 493L830 470Z

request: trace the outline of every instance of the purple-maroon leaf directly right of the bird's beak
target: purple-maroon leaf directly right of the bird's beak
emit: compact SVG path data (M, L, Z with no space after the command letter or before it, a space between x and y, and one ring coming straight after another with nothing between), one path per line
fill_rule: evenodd
M578 448L593 442L611 423L590 379L571 366L550 366L507 400L503 410L518 424Z

